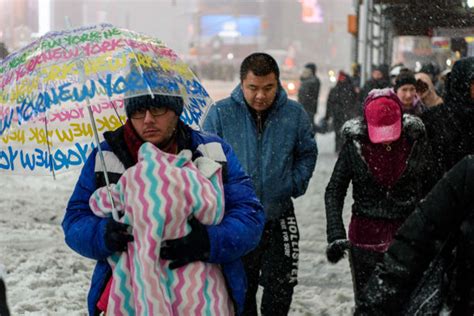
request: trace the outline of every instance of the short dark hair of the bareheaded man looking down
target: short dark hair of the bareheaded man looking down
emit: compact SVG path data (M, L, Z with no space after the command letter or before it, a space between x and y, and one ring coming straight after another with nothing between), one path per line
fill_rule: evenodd
M275 59L265 53L253 53L245 57L240 65L240 81L243 81L249 71L255 76L266 76L274 73L277 80L280 79L280 69Z

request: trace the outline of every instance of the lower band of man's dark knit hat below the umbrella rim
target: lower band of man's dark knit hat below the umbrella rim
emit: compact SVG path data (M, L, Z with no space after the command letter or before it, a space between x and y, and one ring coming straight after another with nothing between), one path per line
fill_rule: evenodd
M183 112L183 98L178 96L155 94L153 98L150 95L141 95L125 99L125 113L127 117L136 111L149 109L152 107L167 107L180 116Z

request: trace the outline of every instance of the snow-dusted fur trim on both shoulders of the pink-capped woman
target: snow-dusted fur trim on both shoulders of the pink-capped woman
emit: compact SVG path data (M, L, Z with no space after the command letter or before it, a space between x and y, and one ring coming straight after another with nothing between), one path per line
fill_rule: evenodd
M345 140L367 140L367 122L362 117L351 119L342 126L342 135ZM425 125L421 119L411 114L403 114L402 135L416 141L426 137Z

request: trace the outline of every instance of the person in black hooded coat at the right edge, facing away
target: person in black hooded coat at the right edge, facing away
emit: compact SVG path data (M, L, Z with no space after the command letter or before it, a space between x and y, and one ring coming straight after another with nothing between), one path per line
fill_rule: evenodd
M433 159L444 172L474 154L474 57L458 60L446 81L444 104L422 115Z

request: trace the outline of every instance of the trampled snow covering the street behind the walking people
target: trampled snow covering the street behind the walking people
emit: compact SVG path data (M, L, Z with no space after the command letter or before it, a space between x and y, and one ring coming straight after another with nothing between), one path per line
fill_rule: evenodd
M211 96L221 97L206 87ZM318 135L317 142L320 154L313 178L306 194L295 200L301 253L290 315L350 315L348 262L331 265L324 254L324 189L336 160L334 134ZM61 174L56 181L0 177L0 262L6 271L12 315L86 315L94 262L66 246L60 225L77 176L77 172ZM347 198L346 218L349 206Z

